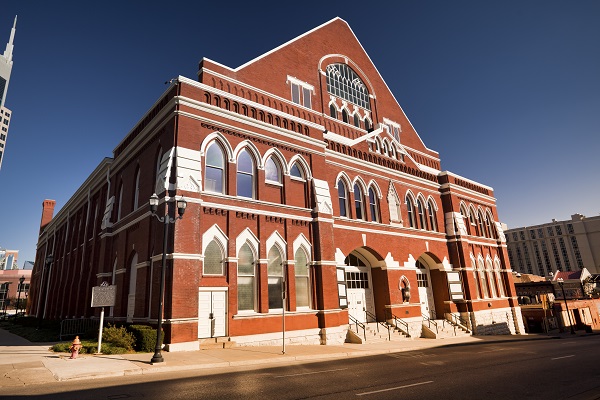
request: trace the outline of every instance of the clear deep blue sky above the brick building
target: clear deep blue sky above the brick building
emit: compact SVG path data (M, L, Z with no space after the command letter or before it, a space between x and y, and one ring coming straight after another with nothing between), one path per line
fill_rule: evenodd
M1 52L18 23L0 246L20 266L42 201L58 211L166 80L195 79L202 57L237 67L336 16L442 168L494 188L502 222L600 213L600 2L2 3Z

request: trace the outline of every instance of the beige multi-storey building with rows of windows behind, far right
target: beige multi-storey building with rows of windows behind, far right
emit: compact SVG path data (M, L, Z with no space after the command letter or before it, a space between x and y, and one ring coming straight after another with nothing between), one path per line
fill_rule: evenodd
M550 276L556 271L600 273L600 216L573 214L571 220L506 231L508 256L515 271Z

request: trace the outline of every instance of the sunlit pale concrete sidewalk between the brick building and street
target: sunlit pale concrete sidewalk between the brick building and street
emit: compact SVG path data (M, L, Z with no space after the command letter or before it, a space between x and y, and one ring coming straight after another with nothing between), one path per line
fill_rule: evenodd
M190 352L163 352L163 363L150 364L152 354L80 355L53 353L51 344L34 344L0 329L0 387L22 386L73 379L95 379L167 371L216 369L249 365L277 365L316 362L348 357L418 351L449 345L505 343L543 340L570 335L466 336L447 339L409 339L371 344L346 343L340 346L234 347Z

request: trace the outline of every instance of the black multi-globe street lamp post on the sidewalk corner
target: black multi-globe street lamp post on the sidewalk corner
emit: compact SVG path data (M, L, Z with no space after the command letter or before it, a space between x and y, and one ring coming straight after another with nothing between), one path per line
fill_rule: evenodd
M152 356L152 359L150 360L150 362L152 364L154 363L159 363L159 362L163 362L164 359L162 357L161 354L161 348L162 348L162 343L161 343L161 331L162 331L162 312L163 312L163 298L164 298L164 293L165 293L165 270L167 268L167 239L168 239L168 235L169 235L169 224L175 224L175 221L177 221L178 219L183 218L183 213L185 212L185 208L187 206L187 202L183 199L180 198L179 200L177 200L177 213L179 214L178 217L175 218L171 218L169 216L169 207L168 207L168 203L165 203L165 215L163 217L159 217L158 215L156 215L156 210L158 209L158 203L159 203L159 199L158 196L156 195L156 193L154 193L152 196L150 196L150 200L148 201L148 203L150 204L150 212L152 213L153 216L156 217L156 219L158 219L159 222L163 223L163 253L162 253L162 260L161 260L161 266L160 266L160 292L158 294L158 324L156 326L156 347L154 348L154 355Z

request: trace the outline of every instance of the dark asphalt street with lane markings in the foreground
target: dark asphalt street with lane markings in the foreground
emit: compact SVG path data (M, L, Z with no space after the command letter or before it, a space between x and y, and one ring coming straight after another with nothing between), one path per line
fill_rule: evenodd
M600 336L56 382L11 399L600 399ZM6 394L0 398L9 398Z

